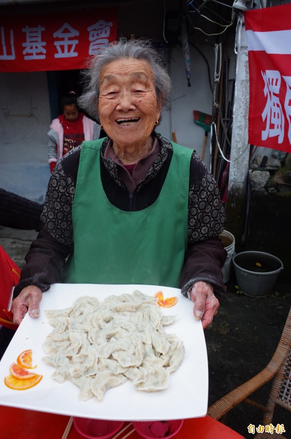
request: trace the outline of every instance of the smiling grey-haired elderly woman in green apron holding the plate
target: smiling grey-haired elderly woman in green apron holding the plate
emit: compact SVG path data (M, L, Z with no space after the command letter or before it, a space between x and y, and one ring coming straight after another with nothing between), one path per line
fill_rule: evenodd
M15 289L16 323L39 315L55 282L180 287L203 328L211 323L225 294L225 214L201 159L155 132L169 94L148 42L121 40L94 58L79 103L108 137L83 142L51 175Z

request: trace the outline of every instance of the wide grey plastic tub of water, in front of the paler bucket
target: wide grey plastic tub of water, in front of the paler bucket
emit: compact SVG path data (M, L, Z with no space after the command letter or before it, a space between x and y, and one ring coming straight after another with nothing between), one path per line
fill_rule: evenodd
M242 251L233 256L232 262L240 290L251 297L268 296L283 270L279 258L263 251Z

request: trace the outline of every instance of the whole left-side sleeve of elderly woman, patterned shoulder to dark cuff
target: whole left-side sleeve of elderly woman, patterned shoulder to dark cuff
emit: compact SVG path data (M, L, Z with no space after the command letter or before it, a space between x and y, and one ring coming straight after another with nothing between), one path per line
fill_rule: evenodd
M41 219L43 228L25 256L26 265L14 297L28 285L42 291L60 280L65 259L72 250L72 204L79 167L80 148L74 148L55 166L47 189Z

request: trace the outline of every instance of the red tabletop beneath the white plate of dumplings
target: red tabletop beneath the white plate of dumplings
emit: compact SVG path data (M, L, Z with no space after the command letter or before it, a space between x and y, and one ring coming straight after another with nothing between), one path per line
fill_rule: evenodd
M68 416L43 413L0 406L0 438L1 439L61 439L69 421ZM120 439L132 429L132 426L120 435ZM135 431L129 439L141 439ZM204 418L185 419L175 439L243 439L243 436L215 421L210 416ZM84 439L74 425L67 439ZM119 439L119 437L117 438Z

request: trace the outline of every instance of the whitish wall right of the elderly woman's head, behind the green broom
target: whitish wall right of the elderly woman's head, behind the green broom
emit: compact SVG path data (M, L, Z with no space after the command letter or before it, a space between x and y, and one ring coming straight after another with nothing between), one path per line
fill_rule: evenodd
M196 46L206 56L210 65L210 79L213 87L215 53L214 48L209 43ZM228 55L231 57L229 78L235 78L235 54L233 44L227 48ZM170 140L172 132L176 133L177 142L188 148L195 149L201 156L202 146L205 136L203 127L194 123L193 110L198 110L206 114L212 114L213 95L210 90L207 64L199 52L190 46L190 70L191 87L188 87L186 78L183 52L181 47L174 47L167 51L167 68L172 79L172 108L162 114L162 122L158 127L158 132ZM210 132L206 143L204 156L206 166L210 167Z

